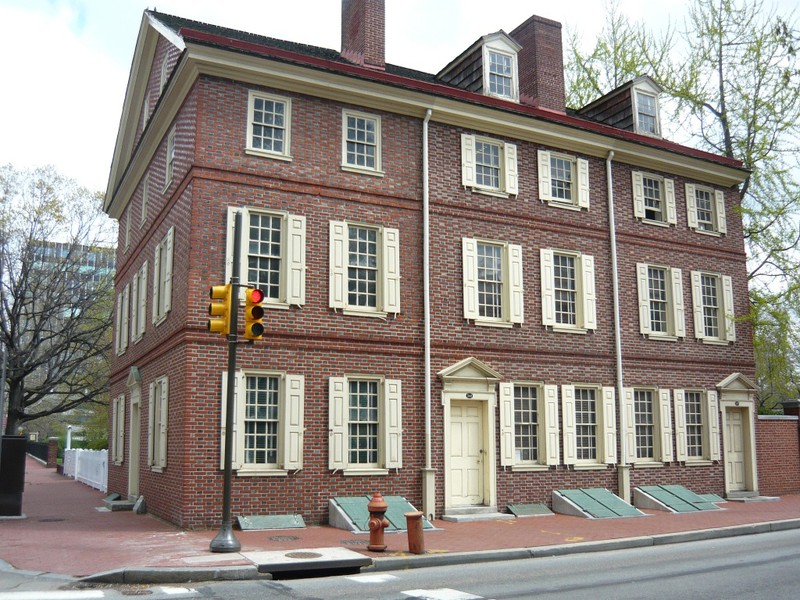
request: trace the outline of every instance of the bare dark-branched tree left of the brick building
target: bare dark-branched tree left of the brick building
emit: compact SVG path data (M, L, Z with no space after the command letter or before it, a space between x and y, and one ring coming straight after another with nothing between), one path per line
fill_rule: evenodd
M99 194L52 167L0 167L0 348L8 420L107 403L113 225Z

